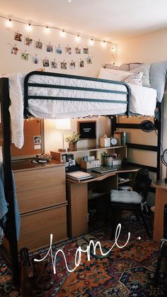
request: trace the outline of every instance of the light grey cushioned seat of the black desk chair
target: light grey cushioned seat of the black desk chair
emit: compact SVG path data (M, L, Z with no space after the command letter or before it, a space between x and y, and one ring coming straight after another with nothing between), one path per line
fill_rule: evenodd
M142 196L135 191L110 191L110 201L117 203L134 203L140 204L142 202Z

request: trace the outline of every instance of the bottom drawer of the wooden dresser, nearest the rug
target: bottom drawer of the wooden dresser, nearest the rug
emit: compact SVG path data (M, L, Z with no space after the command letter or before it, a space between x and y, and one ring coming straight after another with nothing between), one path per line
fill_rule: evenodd
M67 239L66 205L21 215L18 248L20 250L22 247L28 247L28 250L37 250L50 246L50 234L53 234L53 242Z

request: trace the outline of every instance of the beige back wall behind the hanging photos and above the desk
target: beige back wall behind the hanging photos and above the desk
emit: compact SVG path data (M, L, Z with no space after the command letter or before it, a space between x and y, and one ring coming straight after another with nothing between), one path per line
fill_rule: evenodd
M55 52L50 53L46 52L46 49L38 50L35 49L34 41L33 45L25 45L24 42L17 42L14 40L14 32L19 32L23 34L23 36L30 36L33 40L39 40L45 44L51 43L54 46L62 47L62 55L57 55ZM88 39L81 38L81 41L75 40L73 35L68 35L64 38L61 37L60 31L58 30L50 30L50 33L45 33L44 28L35 28L28 33L25 30L25 25L20 23L14 23L12 30L6 29L6 21L0 19L0 74L12 73L12 72L30 72L36 70L42 66L42 60L47 57L49 60L54 60L56 58L56 62L58 62L58 68L52 69L47 67L46 70L48 72L60 72L65 74L75 74L87 77L97 77L100 67L105 63L113 63L113 55L110 50L110 45L103 47L101 43L95 42L93 46L89 45ZM24 40L24 38L23 38ZM81 46L82 54L76 55L74 53L74 48L77 46ZM18 55L11 55L11 47L17 46L19 48ZM64 51L64 47L72 47L72 55L67 55ZM86 59L88 55L83 53L83 47L88 46L89 55L92 58L92 64L87 65L86 60L85 67L79 68L78 61L81 59ZM45 47L45 46L44 46ZM21 59L21 51L30 52L30 55L38 55L40 57L40 65L35 65L32 62L32 56L29 57L28 61ZM76 62L76 69L69 69L68 63L73 60ZM67 62L67 70L60 69L59 62ZM71 131L76 130L76 122L77 120L72 121ZM97 120L97 128L98 133L97 136L103 135L104 133L110 134L110 121L106 118L98 118ZM70 131L69 131L70 132ZM97 140L98 142L98 140ZM88 141L79 142L79 146L87 146L87 145L96 145L96 141ZM55 131L54 121L45 120L45 151L48 152L50 150L56 150L58 147L62 147L62 135L60 131Z

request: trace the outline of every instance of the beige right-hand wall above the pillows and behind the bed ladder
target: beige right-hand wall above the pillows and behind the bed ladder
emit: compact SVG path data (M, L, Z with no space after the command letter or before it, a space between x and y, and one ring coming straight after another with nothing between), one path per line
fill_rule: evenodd
M167 60L167 29L140 36L117 45L118 65L123 62L159 62ZM167 95L163 105L163 150L167 148ZM149 141L146 133L145 139ZM151 162L147 159L147 162ZM166 175L166 168L163 166L163 176Z

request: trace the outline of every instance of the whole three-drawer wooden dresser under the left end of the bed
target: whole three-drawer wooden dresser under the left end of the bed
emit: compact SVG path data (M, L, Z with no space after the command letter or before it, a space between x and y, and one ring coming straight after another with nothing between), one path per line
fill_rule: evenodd
M21 235L18 249L36 250L67 239L67 200L64 164L52 160L47 164L30 161L12 163Z

